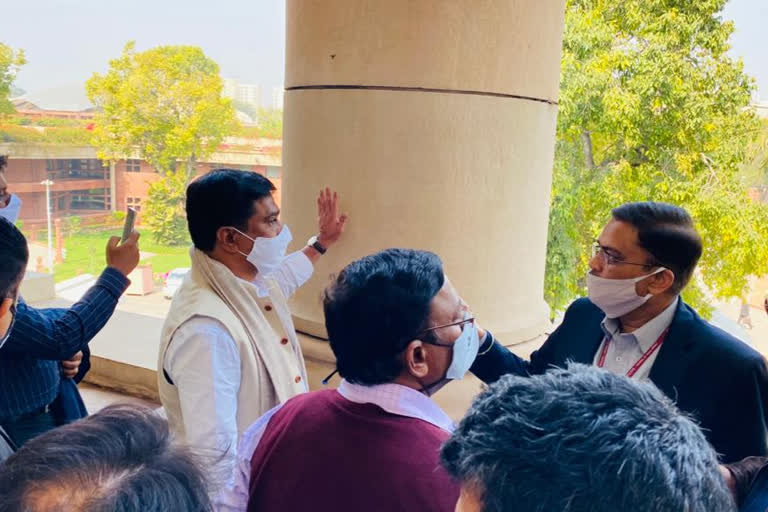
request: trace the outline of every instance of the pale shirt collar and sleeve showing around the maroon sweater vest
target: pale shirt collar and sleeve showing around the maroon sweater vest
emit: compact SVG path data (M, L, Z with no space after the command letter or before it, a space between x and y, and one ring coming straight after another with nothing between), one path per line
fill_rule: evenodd
M400 384L361 386L342 380L338 393L358 404L378 405L390 414L416 418L452 432L453 421L431 398L415 389ZM214 501L218 512L243 512L248 508L248 489L251 479L251 459L267 430L269 420L280 410L278 405L264 414L243 434L237 448L235 469L226 486Z

